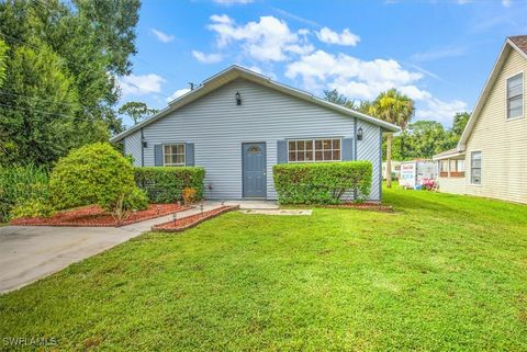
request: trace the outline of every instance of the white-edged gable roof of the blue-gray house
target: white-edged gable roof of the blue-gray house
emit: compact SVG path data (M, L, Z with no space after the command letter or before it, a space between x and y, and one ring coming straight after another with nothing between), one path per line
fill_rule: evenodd
M156 122L159 118L162 118L164 116L172 113L173 111L181 109L182 106L190 104L194 100L198 100L212 91L227 84L228 82L232 82L233 80L237 78L243 78L247 79L249 81L253 81L255 83L262 84L265 87L269 87L273 90L277 90L279 92L285 93L288 95L292 95L295 98L299 98L301 100L312 102L314 104L317 104L319 106L339 112L344 115L348 115L351 117L357 117L359 120L369 122L373 125L381 126L388 132L399 132L401 128L394 124L390 124L388 122L384 122L382 120L359 113L358 111L351 110L344 107L338 104L334 104L332 102L328 102L326 100L319 99L314 96L313 94L302 91L300 89L295 89L285 84L282 84L280 82L271 80L269 77L265 77L260 73L257 73L255 71L248 70L246 68L233 65L228 67L227 69L221 71L220 73L216 73L212 76L211 78L208 78L204 80L198 88L194 90L177 98L176 100L171 101L168 103L168 106L156 113L155 115L142 121L141 123L134 125L133 127L127 128L126 130L120 133L119 135L115 135L114 137L110 138L110 141L119 141L123 139L124 137L128 136L130 134Z

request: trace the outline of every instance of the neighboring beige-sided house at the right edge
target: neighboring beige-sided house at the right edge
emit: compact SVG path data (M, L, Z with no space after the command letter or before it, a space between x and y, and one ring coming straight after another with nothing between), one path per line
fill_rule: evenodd
M527 203L527 35L500 53L457 148L434 156L439 190Z

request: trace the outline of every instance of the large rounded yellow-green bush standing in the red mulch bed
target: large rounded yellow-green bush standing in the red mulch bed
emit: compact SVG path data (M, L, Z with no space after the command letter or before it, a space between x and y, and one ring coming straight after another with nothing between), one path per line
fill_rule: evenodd
M110 144L96 143L61 158L53 169L49 189L56 208L99 204L113 211L136 185L130 161Z

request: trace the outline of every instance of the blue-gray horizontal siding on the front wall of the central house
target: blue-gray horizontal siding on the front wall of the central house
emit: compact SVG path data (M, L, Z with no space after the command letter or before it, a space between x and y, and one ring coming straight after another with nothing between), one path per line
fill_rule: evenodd
M239 106L235 101L237 91L242 95ZM274 200L272 167L277 163L277 140L350 138L354 137L354 120L268 87L237 79L145 126L144 166L154 166L156 144L193 143L195 166L206 170L205 196L242 198L242 143L265 141L267 197ZM373 169L380 170L380 127L367 122L361 122L361 126L365 139L358 145L358 156L372 161ZM135 134L125 137L126 144L132 136ZM379 200L378 183L374 177L372 200Z

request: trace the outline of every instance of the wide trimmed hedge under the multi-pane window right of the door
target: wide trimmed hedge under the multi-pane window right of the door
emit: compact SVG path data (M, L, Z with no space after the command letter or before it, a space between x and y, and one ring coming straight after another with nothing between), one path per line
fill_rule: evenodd
M345 192L356 192L358 201L370 194L369 161L284 163L272 170L281 204L337 204Z

